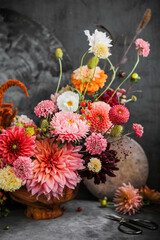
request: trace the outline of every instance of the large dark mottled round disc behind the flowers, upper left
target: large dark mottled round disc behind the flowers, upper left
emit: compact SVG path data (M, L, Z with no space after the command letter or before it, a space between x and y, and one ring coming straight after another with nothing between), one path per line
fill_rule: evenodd
M36 119L34 107L54 93L58 83L59 63L54 52L61 47L64 84L69 79L71 62L62 44L48 29L9 9L0 9L0 84L8 79L22 81L29 98L19 88L9 89L4 102L14 103L18 114Z

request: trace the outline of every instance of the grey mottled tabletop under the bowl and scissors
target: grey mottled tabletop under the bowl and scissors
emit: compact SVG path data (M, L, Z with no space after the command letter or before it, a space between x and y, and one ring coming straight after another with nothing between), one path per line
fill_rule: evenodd
M0 218L0 239L3 240L155 240L160 239L160 227L151 231L143 229L141 235L127 235L118 231L118 223L104 218L114 213L114 207L100 208L98 201L72 200L65 203L63 216L50 220L34 220L24 216L23 207L11 211L8 217ZM77 212L77 207L82 211ZM148 219L160 224L159 209L145 208L132 218ZM9 225L9 230L4 227Z

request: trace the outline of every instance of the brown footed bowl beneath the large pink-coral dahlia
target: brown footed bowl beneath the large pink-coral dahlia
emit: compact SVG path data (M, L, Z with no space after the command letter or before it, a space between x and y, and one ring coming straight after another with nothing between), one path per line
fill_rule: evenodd
M31 193L28 192L25 187L21 187L15 192L11 192L10 196L16 202L27 205L24 212L26 217L33 219L50 219L60 217L63 214L60 204L73 199L78 192L78 188L79 185L77 185L75 189L65 187L62 197L59 196L59 199L52 197L49 201L45 195L39 196L37 200L37 194L31 196Z

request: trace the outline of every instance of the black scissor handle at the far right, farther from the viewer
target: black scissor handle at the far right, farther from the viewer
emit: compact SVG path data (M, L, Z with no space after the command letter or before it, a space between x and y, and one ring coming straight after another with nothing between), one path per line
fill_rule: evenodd
M141 220L141 219L127 219L127 222L144 227L150 230L156 230L158 228L158 225L155 222L149 221L149 220Z

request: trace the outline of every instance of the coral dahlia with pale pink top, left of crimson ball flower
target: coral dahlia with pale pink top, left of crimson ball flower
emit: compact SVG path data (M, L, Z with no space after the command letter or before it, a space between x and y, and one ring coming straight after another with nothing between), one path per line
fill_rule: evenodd
M112 123L109 119L109 104L105 102L94 102L92 109L89 111L90 118L90 131L105 134L111 127Z

